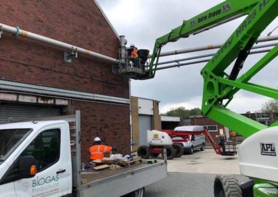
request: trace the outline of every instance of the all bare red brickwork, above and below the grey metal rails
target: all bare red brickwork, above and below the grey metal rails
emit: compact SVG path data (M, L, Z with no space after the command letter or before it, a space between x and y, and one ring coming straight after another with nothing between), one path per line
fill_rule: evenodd
M1 1L1 23L117 58L119 40L92 0ZM129 80L111 63L79 54L64 62L63 49L3 33L0 78L129 99ZM82 160L95 136L130 152L129 106L72 101L81 110Z

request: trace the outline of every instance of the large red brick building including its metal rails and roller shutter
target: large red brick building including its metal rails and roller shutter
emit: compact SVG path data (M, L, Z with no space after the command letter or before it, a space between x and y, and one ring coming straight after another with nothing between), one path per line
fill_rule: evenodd
M1 24L117 58L119 37L95 1L1 1L0 15ZM67 63L65 50L5 32L0 51L1 123L81 110L83 161L96 136L130 152L129 79L111 63L81 54Z

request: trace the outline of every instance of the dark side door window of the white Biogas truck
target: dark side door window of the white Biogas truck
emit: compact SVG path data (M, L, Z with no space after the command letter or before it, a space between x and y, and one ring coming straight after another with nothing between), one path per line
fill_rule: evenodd
M33 156L38 172L56 163L60 158L60 129L41 132L20 156Z

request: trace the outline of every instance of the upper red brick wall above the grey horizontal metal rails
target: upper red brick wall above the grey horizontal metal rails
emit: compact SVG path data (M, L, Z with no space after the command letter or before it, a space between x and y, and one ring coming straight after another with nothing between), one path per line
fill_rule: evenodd
M1 23L117 58L119 40L92 0L1 1ZM128 79L111 63L79 54L72 64L63 49L3 33L1 78L129 97ZM124 87L124 88L122 88Z

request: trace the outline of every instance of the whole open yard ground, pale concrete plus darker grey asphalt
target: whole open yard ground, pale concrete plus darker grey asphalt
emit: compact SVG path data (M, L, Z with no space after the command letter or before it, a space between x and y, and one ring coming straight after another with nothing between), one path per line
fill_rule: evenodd
M239 183L248 180L240 175L238 155L216 155L211 148L168 160L167 171L167 178L145 187L145 197L211 197L218 174L233 175Z

